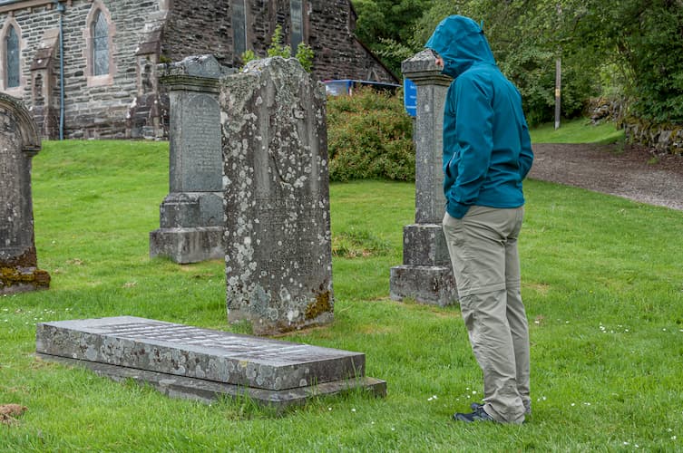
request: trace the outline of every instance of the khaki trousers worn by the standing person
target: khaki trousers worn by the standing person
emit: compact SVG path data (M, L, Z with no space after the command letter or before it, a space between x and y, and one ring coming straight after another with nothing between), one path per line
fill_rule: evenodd
M464 324L483 371L484 410L509 423L522 423L531 412L529 327L517 253L523 216L523 207L473 206L461 219L446 213L443 225Z

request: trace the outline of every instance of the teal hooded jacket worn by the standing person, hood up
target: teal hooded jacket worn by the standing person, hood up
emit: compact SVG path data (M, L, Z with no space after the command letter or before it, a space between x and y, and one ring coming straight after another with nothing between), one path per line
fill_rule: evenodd
M470 18L446 17L425 47L442 57L442 72L454 78L444 106L446 211L462 218L473 205L521 207L533 152L520 92Z

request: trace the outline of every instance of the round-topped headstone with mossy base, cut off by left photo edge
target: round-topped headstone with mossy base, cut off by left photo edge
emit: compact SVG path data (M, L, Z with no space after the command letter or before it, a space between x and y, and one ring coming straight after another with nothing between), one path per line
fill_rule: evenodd
M15 98L0 93L0 294L47 288L37 268L31 159L40 150L34 120Z

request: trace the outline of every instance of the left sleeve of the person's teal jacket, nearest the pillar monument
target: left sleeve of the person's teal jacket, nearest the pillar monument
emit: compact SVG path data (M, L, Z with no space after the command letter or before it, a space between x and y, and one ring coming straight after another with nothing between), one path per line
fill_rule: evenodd
M476 203L491 163L493 152L493 107L486 83L473 77L459 77L455 82L455 121L458 159L450 159L450 174L457 175L448 191L448 212L462 218ZM448 172L446 173L448 174Z

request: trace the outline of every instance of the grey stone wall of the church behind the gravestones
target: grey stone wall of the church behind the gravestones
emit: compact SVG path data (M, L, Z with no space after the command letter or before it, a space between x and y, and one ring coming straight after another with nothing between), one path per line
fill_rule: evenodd
M8 26L14 26L21 55L20 85L6 87L6 49L0 50L0 91L24 101L41 135L59 137L61 16L63 137L164 136L168 97L157 81L157 64L210 53L226 66L241 66L240 55L233 53L231 8L236 1L24 0L0 5L0 39L5 43ZM249 49L266 56L277 24L289 41L289 0L245 0L245 5ZM110 71L100 76L93 76L92 62L96 10L107 19L110 35ZM302 10L304 42L314 51L317 79L396 82L353 36L356 14L349 0L303 0Z

